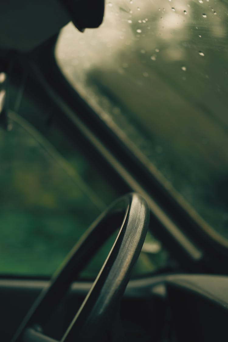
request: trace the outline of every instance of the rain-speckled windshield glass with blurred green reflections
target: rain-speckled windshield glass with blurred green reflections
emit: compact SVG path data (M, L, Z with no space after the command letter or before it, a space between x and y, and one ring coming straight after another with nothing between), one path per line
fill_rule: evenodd
M226 1L116 0L100 28L81 34L69 24L56 47L64 75L98 115L224 237L227 29Z

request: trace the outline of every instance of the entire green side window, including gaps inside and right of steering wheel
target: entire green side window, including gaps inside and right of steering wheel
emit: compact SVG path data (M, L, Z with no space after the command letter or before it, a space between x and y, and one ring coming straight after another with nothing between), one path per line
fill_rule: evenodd
M11 99L14 93L12 87ZM0 275L50 276L121 190L80 143L49 122L50 109L27 95L18 108L9 111L11 130L0 128ZM97 275L114 239L115 234L82 278ZM166 251L148 233L133 275L166 263Z

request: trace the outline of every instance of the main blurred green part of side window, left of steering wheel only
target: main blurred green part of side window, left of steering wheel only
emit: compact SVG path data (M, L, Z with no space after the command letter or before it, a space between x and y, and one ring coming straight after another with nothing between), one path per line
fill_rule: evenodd
M25 119L10 120L0 130L0 273L50 275L117 194L57 127L68 161Z

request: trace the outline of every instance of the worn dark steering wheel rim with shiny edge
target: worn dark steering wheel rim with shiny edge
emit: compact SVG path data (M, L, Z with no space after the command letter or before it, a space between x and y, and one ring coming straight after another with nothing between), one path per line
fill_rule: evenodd
M42 333L44 323L67 292L70 284L107 238L120 227L118 236L90 291L66 330L61 342L123 341L113 325L118 321L120 300L138 259L149 224L145 200L136 193L116 200L69 253L42 291L11 342L56 342ZM35 327L40 327L39 329Z

